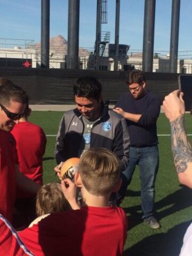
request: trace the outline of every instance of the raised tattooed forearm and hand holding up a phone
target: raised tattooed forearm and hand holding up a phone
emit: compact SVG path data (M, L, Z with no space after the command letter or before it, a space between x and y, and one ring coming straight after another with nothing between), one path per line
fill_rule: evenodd
M173 91L165 97L163 110L171 125L171 147L179 181L192 188L192 148L187 139L183 93Z

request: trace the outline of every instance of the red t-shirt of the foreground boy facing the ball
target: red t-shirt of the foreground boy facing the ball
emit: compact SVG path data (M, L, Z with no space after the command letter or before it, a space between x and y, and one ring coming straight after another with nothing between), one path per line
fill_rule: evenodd
M121 208L89 206L52 213L19 236L38 256L117 256L123 254L126 231Z

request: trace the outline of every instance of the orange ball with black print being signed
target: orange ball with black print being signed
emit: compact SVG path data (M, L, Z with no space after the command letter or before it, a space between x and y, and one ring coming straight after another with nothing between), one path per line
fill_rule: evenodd
M71 157L67 159L61 166L61 179L73 180L76 170L78 170L80 158Z

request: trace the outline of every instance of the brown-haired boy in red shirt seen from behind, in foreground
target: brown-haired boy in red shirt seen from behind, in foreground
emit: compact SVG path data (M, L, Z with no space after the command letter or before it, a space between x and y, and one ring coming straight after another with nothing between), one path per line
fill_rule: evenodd
M52 213L19 233L35 255L123 254L127 222L124 211L108 206L110 194L121 185L119 160L104 148L91 148L81 157L75 184L81 188L83 206L76 202L76 186L69 179L61 186L72 209Z

